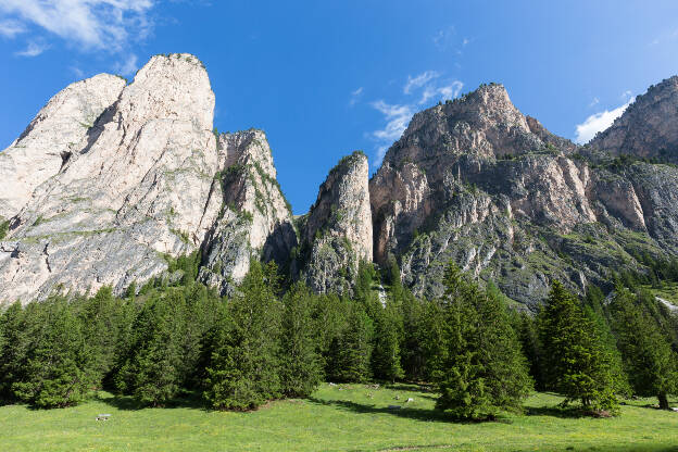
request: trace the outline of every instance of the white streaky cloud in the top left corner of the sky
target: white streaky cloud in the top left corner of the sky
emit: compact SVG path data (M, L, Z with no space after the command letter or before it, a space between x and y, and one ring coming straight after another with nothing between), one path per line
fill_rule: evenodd
M154 0L0 0L0 14L22 26L54 34L85 50L120 51L131 37L143 38Z

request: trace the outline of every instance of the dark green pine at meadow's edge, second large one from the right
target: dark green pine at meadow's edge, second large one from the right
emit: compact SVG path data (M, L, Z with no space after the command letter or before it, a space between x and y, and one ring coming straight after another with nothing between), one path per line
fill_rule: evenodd
M616 410L611 357L577 299L554 281L539 316L548 388L565 395L564 404Z

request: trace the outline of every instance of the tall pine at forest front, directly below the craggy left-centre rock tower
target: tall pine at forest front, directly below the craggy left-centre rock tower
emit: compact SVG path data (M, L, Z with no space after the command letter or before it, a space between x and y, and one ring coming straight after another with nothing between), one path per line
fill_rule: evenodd
M281 394L279 379L282 305L277 281L252 261L219 321L206 369L205 399L217 410L250 410Z

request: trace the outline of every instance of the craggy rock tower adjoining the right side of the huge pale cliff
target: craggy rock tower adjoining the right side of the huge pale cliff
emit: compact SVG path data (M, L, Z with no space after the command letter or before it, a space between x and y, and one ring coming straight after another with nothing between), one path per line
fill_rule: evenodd
M250 259L286 264L297 234L264 133L223 134L218 152L224 170L217 175L212 203L223 208L203 246L200 278L229 293L249 271Z

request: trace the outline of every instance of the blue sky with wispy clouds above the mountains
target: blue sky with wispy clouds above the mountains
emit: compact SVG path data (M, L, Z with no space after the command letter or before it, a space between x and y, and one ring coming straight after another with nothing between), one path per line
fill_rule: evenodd
M0 0L0 149L70 83L190 52L215 125L266 130L299 214L342 155L363 149L376 170L414 112L481 83L586 140L678 74L678 2L555 3Z

